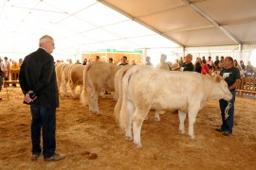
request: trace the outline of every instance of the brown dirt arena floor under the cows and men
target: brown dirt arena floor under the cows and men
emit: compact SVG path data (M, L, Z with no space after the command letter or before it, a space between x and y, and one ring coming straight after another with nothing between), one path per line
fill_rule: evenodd
M229 137L214 130L221 124L216 100L199 111L194 141L179 134L177 114L167 112L155 122L151 111L141 130L143 148L137 149L119 130L111 95L101 97L101 115L61 95L56 140L66 158L46 162L43 156L30 161L30 111L19 87L8 90L9 100L0 92L0 169L256 169L255 98L237 97Z

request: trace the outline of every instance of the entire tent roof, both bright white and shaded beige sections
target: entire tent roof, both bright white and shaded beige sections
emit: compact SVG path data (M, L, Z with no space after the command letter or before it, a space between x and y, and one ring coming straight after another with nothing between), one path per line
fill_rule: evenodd
M60 55L256 43L255 7L255 0L0 0L0 52L31 52L45 34Z

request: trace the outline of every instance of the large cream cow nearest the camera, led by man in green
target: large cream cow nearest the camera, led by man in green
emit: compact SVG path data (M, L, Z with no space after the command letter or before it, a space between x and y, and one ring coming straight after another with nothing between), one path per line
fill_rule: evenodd
M138 148L142 123L150 109L179 110L179 130L185 132L188 114L189 135L194 139L193 124L197 112L208 98L230 100L228 84L221 76L203 76L195 72L170 72L149 66L134 66L122 79L122 106L119 126L126 139ZM132 134L133 128L133 134Z

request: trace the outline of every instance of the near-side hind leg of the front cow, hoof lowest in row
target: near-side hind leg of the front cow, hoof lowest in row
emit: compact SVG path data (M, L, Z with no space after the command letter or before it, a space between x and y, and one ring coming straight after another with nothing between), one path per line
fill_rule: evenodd
M134 144L137 145L137 148L142 148L142 144L140 142L140 131L143 124L143 121L145 120L145 117L147 116L148 110L138 110L136 109L135 114L133 116L133 132L134 132Z

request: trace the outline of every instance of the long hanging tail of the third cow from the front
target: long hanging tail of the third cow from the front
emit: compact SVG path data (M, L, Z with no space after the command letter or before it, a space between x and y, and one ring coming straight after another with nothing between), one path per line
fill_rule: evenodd
M88 99L89 99L88 90L87 90L87 72L90 66L91 64L87 64L83 70L83 89L82 89L80 99L84 107L88 105Z

